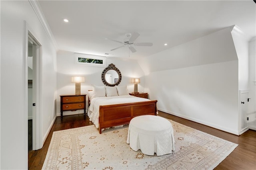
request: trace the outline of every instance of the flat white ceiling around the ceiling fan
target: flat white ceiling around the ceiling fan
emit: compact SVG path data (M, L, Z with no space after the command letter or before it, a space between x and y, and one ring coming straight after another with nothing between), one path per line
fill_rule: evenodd
M110 51L122 44L106 38L124 41L125 33L138 32L135 42L154 44L130 51L130 59L139 59L232 25L240 27L248 39L256 36L253 0L38 2L62 51L129 58L128 47Z

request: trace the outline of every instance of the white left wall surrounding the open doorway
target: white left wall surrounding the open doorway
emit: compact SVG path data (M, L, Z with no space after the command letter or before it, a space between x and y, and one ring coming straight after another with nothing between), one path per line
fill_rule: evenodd
M42 136L55 115L56 51L28 1L1 1L1 167L28 168L24 20L42 45ZM14 77L14 78L13 78ZM50 121L48 117L50 116ZM15 159L14 160L14 153Z

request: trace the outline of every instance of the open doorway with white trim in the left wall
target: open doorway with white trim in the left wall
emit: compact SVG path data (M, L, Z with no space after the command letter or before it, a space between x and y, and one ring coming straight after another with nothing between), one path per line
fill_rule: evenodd
M41 136L41 56L42 46L33 31L25 21L24 41L24 74L25 79L25 106L26 109L26 131L28 135L28 151L42 148ZM26 46L25 46L26 45Z

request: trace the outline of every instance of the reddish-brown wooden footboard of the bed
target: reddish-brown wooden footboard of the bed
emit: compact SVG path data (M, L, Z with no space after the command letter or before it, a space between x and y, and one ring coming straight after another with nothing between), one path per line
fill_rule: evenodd
M127 104L100 106L99 133L103 128L130 123L133 117L140 115L156 115L157 100Z

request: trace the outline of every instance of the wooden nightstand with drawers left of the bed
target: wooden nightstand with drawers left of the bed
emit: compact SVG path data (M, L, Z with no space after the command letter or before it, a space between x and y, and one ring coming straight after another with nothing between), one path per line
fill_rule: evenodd
M60 95L60 116L63 118L63 111L76 111L84 109L86 113L86 94L62 94Z

